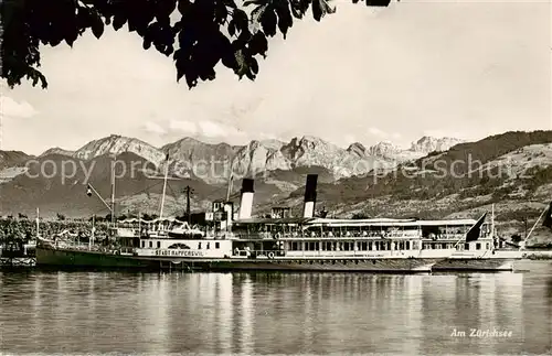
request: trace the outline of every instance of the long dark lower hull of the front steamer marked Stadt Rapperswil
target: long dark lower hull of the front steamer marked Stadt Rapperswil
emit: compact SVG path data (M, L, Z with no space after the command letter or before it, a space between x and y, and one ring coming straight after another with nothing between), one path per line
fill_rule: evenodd
M248 259L248 258L153 258L109 255L85 250L36 248L36 266L56 269L152 269L203 271L351 271L431 272L437 259Z

